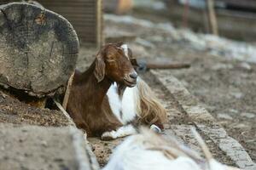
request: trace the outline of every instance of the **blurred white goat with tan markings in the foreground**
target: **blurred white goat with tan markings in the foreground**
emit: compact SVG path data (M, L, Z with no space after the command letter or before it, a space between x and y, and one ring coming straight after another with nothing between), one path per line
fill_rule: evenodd
M167 142L144 128L119 144L102 170L239 170L214 160L199 134L194 133L206 160L176 140Z

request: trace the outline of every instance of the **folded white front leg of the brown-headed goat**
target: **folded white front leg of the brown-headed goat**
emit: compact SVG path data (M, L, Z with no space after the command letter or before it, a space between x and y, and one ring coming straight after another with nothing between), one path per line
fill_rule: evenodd
M131 124L128 124L123 127L119 127L117 130L102 133L102 140L118 139L135 133L137 133L135 127L133 127Z

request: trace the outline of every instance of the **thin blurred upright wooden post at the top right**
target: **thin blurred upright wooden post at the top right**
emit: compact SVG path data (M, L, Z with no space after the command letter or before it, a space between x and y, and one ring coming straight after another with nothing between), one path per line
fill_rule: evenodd
M218 36L218 22L214 9L214 0L207 0L207 8L210 26L212 28L212 34Z

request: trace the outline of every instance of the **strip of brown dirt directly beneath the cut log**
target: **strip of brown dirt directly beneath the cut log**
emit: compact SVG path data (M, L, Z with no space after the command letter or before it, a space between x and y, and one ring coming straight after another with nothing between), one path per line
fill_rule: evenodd
M45 127L67 126L68 121L60 111L40 109L26 105L0 91L0 123L30 124Z

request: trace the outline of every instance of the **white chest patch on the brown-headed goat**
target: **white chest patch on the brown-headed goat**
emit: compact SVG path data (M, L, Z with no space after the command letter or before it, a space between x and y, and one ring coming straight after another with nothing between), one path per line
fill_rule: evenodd
M122 99L119 98L118 87L114 82L108 89L108 102L113 114L120 122L126 124L137 116L137 87L125 88Z

